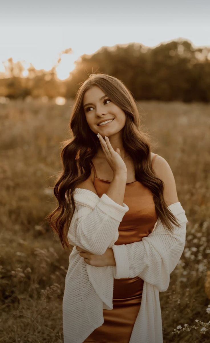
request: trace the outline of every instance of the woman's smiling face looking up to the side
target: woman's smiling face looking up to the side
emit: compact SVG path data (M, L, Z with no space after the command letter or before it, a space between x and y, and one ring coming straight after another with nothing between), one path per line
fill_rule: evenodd
M126 116L124 111L115 105L98 86L89 88L83 97L83 108L90 129L100 133L102 137L113 136L125 126ZM98 126L101 121L114 119L108 124Z

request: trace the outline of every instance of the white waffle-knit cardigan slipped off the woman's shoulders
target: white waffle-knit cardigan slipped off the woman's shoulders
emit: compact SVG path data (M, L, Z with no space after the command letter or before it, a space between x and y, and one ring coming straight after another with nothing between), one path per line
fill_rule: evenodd
M185 246L187 217L181 203L168 206L181 224L181 228L173 225L173 235L158 217L153 231L141 241L114 245L128 206L121 206L106 193L99 198L94 192L76 188L73 194L76 208L67 237L74 247L63 295L64 343L82 343L103 324L103 309L113 309L114 278L136 276L144 280L144 286L129 343L163 343L159 292L168 289L170 274ZM96 255L112 248L116 266L91 266L76 246Z

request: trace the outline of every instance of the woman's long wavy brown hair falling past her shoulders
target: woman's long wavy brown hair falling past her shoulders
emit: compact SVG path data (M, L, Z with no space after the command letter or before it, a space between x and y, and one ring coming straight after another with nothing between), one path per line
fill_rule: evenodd
M59 205L47 215L49 225L59 235L63 248L71 249L67 234L75 211L73 192L78 184L90 176L91 161L100 146L96 134L91 131L86 121L83 109L84 94L92 86L100 87L110 100L124 111L126 123L123 128L123 147L134 162L135 178L152 192L156 212L164 228L172 233L171 223L179 227L180 224L167 208L163 198L164 183L156 177L151 166L149 135L139 127L139 113L131 92L119 79L102 73L90 74L88 79L79 85L70 118L71 139L61 143L63 170L55 180L53 188Z

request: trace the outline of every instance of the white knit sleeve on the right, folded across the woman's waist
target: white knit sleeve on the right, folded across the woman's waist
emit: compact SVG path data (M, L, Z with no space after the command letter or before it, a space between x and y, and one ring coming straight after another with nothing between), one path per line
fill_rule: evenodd
M131 244L113 245L115 279L140 277L156 286L159 292L169 287L170 273L176 267L185 246L187 217L181 203L168 206L181 228L173 225L173 234L166 231L158 217L156 228L147 237Z

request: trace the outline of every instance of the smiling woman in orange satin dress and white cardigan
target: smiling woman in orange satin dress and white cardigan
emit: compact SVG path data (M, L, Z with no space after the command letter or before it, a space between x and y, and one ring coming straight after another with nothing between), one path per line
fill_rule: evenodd
M150 152L135 100L113 76L89 75L70 127L54 187L59 207L49 215L63 247L74 246L64 342L161 343L159 291L181 257L187 223L172 170Z

